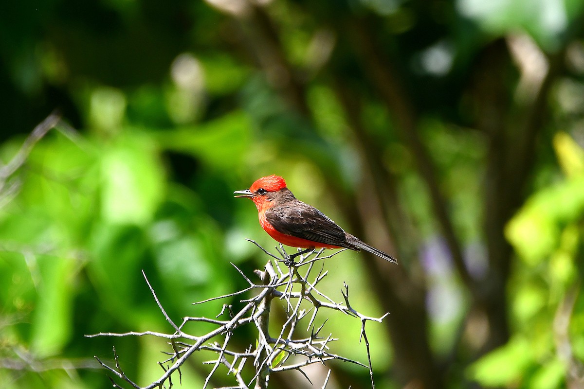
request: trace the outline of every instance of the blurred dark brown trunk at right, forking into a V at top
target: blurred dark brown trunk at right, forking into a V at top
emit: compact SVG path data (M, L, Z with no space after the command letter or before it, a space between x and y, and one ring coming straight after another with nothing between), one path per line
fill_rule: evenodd
M550 64L537 94L527 107L517 107L507 96L500 79L514 70L505 40L485 47L475 66L475 107L477 127L488 136L484 194L485 243L489 272L475 294L477 305L488 318L489 338L481 354L505 344L509 339L506 285L510 276L512 247L504 230L526 197L526 184L536 158L536 140L545 125L547 99L552 81L562 69L563 50ZM513 120L513 109L519 117Z

